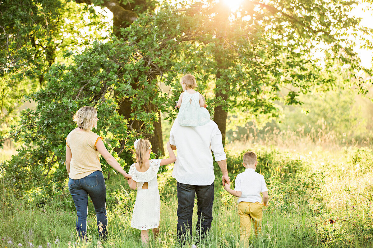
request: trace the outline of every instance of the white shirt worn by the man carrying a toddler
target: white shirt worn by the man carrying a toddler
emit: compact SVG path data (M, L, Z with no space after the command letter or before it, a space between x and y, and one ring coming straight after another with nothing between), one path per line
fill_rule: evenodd
M215 179L211 150L215 161L227 159L222 133L212 120L202 126L181 126L176 118L170 131L170 144L177 149L172 177L179 183L210 185Z

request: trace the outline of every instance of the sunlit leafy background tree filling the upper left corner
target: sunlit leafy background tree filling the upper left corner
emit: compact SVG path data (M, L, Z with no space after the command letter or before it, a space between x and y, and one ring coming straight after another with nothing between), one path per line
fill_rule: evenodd
M94 29L110 27L97 21L104 16L93 7L64 0L4 0L0 13L1 136L15 124L24 96L46 85L49 67L103 39Z

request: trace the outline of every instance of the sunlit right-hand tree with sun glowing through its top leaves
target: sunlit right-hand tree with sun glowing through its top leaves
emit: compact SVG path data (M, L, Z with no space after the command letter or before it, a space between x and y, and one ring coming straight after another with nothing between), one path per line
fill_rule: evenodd
M253 119L277 116L281 87L290 88L285 103L299 104L300 93L333 87L333 73L343 70L345 86L354 84L366 94L372 70L361 66L353 48L355 39L371 37L372 29L350 15L363 2L371 3L243 1L235 13L224 1L194 4L189 12L200 22L195 41L204 46L195 61L206 63L204 73L213 75L214 121L223 141L229 110ZM363 46L372 49L369 41Z

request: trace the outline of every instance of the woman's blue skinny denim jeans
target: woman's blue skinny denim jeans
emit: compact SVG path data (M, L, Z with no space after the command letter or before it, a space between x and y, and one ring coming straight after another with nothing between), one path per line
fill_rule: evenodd
M69 178L69 191L76 208L76 229L80 238L87 235L88 195L91 197L96 211L98 234L106 239L106 186L104 175L95 171L81 179ZM100 224L101 222L101 224Z

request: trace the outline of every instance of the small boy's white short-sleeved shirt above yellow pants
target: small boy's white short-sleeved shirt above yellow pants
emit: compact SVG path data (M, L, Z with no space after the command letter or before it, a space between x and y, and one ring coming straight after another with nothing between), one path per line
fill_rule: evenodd
M239 173L235 183L234 190L242 192L241 197L238 198L238 202L261 203L260 193L268 191L263 175L251 168Z

